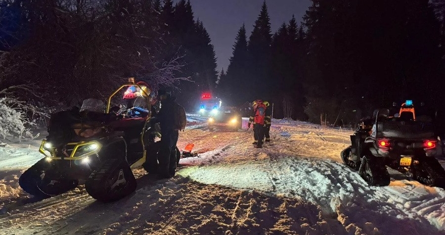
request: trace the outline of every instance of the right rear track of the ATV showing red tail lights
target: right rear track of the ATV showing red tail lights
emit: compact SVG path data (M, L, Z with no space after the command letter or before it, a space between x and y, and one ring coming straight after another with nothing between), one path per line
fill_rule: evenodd
M434 157L428 157L414 168L413 179L426 186L445 188L445 170Z

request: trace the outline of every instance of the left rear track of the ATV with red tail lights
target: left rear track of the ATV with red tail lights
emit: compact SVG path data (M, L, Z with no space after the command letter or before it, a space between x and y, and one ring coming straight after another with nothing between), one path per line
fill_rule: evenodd
M370 186L387 186L390 184L390 175L383 162L383 158L364 156L361 159L358 174Z

